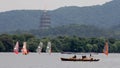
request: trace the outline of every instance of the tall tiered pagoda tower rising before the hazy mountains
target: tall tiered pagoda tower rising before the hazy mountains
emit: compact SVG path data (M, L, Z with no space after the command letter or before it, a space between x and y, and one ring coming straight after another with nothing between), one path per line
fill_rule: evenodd
M49 29L51 24L50 15L48 15L47 11L43 11L43 14L40 18L40 30Z

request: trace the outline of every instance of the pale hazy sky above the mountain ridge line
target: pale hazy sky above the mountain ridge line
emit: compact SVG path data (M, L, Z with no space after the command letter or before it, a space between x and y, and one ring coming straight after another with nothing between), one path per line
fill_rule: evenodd
M0 0L0 12L21 9L53 10L63 6L102 5L111 0Z

